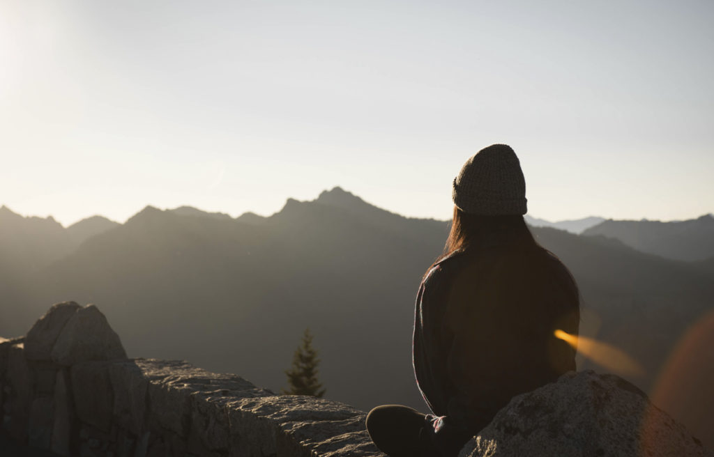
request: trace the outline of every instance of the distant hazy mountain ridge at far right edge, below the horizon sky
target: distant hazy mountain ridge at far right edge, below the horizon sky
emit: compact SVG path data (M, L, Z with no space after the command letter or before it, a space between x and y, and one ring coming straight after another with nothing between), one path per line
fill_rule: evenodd
M714 256L714 216L675 222L606 220L583 235L616 238L636 250L668 259L705 260Z

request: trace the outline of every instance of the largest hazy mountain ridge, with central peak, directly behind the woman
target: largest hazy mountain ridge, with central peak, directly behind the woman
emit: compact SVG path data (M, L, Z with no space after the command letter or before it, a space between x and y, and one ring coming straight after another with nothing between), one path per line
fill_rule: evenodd
M423 410L411 366L413 300L447 232L447 222L402 217L340 188L290 199L270 217L146 207L21 275L0 298L2 315L14 314L0 334L24 334L53 302L95 302L130 356L184 358L278 390L309 326L330 398ZM705 267L606 237L533 233L578 280L583 332L643 364L645 376L631 380L648 389L712 307Z

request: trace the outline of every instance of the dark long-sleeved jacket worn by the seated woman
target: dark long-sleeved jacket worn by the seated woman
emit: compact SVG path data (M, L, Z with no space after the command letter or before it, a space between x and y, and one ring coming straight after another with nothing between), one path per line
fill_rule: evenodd
M413 364L444 456L488 425L517 394L575 370L575 349L553 332L578 333L578 289L538 245L491 245L434 265L416 299Z

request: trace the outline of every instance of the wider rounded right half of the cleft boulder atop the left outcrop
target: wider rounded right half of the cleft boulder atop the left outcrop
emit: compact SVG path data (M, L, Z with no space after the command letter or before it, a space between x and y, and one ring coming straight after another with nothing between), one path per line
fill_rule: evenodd
M71 366L82 361L126 359L126 351L104 314L90 304L69 318L52 348L51 359Z

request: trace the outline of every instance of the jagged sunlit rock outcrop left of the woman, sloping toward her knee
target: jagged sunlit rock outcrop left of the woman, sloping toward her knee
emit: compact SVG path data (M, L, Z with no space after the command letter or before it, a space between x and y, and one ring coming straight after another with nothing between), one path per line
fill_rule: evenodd
M99 309L72 302L0 339L0 411L0 433L61 456L383 456L352 406L126 359Z

